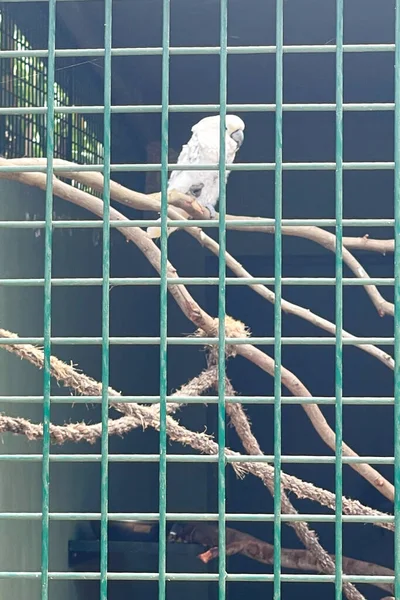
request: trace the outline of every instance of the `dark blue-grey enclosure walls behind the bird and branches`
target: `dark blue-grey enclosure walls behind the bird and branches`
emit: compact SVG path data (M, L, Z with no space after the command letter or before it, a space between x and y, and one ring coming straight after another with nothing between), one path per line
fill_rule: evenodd
M1 10L15 18L33 48L47 47L47 3L6 3ZM393 43L394 2L353 0L345 3L345 43ZM284 43L335 43L335 2L297 0L285 3ZM229 46L269 46L275 44L274 3L264 0L229 2ZM160 47L162 45L161 0L116 0L113 8L113 47ZM171 46L218 46L219 5L216 0L172 0ZM104 47L104 4L100 1L59 2L57 6L57 48ZM4 61L8 59L2 59ZM344 55L344 101L393 102L394 56L392 52L350 53ZM72 85L82 105L103 104L102 58L57 58L56 78L68 70ZM161 56L117 56L112 59L112 104L161 104ZM275 102L275 55L229 54L229 104L273 104ZM219 101L219 56L171 56L170 104L217 104ZM284 55L284 102L334 103L335 54L286 53ZM234 111L231 111L234 112ZM191 126L208 113L171 112L169 145L176 158L190 135ZM239 162L274 162L274 111L247 111L240 115L246 123L245 142ZM0 117L2 118L2 117ZM87 116L90 119L89 116ZM93 119L101 123L101 115ZM335 160L335 112L285 111L284 162ZM114 113L111 120L112 163L159 162L157 142L161 131L160 114ZM345 161L393 160L393 111L351 111L344 115ZM284 218L334 218L334 170L285 171L283 175ZM146 172L113 173L112 178L138 191L157 191L158 180ZM44 194L17 183L0 182L1 220L44 218ZM227 186L227 211L231 214L274 216L274 172L241 171L231 174ZM344 173L345 218L393 218L393 172L391 170L352 171ZM155 218L152 213L122 209L130 218ZM26 217L29 213L29 217ZM55 218L92 218L72 205L55 200ZM209 230L217 239L217 231ZM365 228L347 229L348 235L364 235ZM376 238L392 237L390 228L374 228ZM149 277L156 273L133 244L113 232L111 236L111 276ZM101 277L101 231L94 229L54 232L53 277ZM259 233L228 232L227 249L254 276L274 275L274 240ZM217 276L218 261L185 232L171 236L168 255L180 276ZM357 256L371 276L393 276L392 255L361 253ZM2 229L0 236L0 277L43 277L43 231ZM284 277L334 277L334 254L315 243L300 238L283 238ZM228 275L231 275L227 271ZM350 276L345 268L344 275ZM217 287L189 286L201 306L216 316ZM392 300L392 289L382 289ZM284 286L283 297L334 320L334 286ZM159 288L156 286L116 286L110 292L112 336L159 335ZM52 334L54 336L101 335L101 287L70 286L53 288ZM227 286L227 313L244 321L255 336L273 336L273 306L246 286ZM43 288L0 288L2 327L21 336L43 333ZM168 302L168 333L186 336L193 325L174 304ZM393 335L390 318L380 318L360 286L344 289L344 327L361 336ZM326 334L291 315L283 317L284 336ZM272 346L264 350L273 353ZM391 348L387 348L392 352ZM101 379L100 346L55 346L53 352L73 361L86 374ZM15 356L2 353L0 394L40 395L42 373ZM284 346L283 365L292 370L315 396L333 396L335 364L333 346ZM168 350L168 390L172 392L205 365L199 347L170 346ZM112 346L110 350L111 385L130 395L159 393L159 348L157 346ZM242 395L273 394L273 380L266 373L241 358L229 362L228 374L236 391ZM52 392L67 392L53 385ZM284 390L284 394L288 392ZM360 349L344 349L344 396L391 396L392 373ZM1 410L40 422L40 404L4 404ZM324 414L334 427L334 408L324 407ZM254 433L267 454L273 452L273 408L271 405L247 407ZM191 406L183 409L181 422L191 429L216 434L215 406ZM52 421L63 423L100 419L98 406L54 404ZM344 438L361 455L393 455L393 413L391 407L344 408ZM382 435L382 431L385 435ZM307 444L306 444L307 441ZM22 437L3 436L3 454L41 452L39 442ZM227 444L240 450L231 428ZM100 445L66 444L53 446L52 453L100 453ZM124 439L111 438L113 453L157 453L158 434L134 430ZM190 448L169 444L169 453L190 453ZM283 454L331 455L319 439L301 406L285 405L282 409ZM0 511L41 510L41 463L39 461L1 461L1 478L7 481L0 489ZM334 466L327 464L286 464L284 469L318 486L334 489ZM379 467L390 480L392 467ZM238 481L227 468L227 511L271 513L273 502L262 483L252 477ZM371 486L350 467L343 469L344 493L382 510L388 507ZM96 512L100 510L100 463L51 463L50 497L52 512ZM316 513L317 505L297 503L303 512ZM158 466L156 463L110 463L110 512L157 512ZM217 510L217 469L211 464L169 464L167 510L171 512L215 512ZM270 523L236 523L235 527L272 541ZM312 525L313 526L313 525ZM334 525L315 525L321 542L334 551ZM3 543L0 545L0 571L40 569L40 519L0 521ZM68 540L90 536L87 523L52 521L50 536L50 570L68 570ZM297 547L292 530L283 527L282 544ZM376 561L392 567L391 537L383 530L364 525L345 525L344 554ZM150 561L150 562L149 562ZM198 570L197 561L188 561L185 569ZM211 570L217 568L215 562ZM140 558L140 566L124 564L123 570L156 570L150 558ZM230 572L270 572L269 567L236 556L228 559ZM297 598L302 584L284 584L285 598ZM303 584L304 585L304 584ZM321 593L333 598L333 586L308 585L307 594ZM246 587L245 587L246 586ZM228 597L236 600L251 590L254 598L272 593L272 584L230 583ZM168 583L169 597L217 597L216 585L206 583ZM360 586L362 589L363 586ZM7 597L30 600L40 597L40 581L4 580L0 590ZM156 598L157 585L150 582L110 584L110 598ZM51 597L59 600L98 597L97 582L51 581ZM374 595L376 594L376 595ZM380 594L368 589L368 597ZM144 597L144 596L143 596Z

